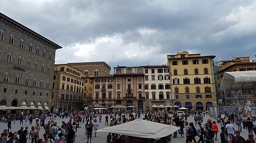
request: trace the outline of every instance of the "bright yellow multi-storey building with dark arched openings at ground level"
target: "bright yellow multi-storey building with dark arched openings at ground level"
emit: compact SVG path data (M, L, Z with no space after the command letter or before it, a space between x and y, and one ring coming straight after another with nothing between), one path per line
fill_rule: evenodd
M171 93L175 99L172 105L201 110L217 106L212 62L215 57L188 51L167 55Z

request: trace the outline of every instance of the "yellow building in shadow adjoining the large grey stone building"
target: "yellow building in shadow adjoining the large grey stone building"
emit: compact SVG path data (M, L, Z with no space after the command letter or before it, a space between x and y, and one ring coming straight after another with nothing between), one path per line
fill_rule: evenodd
M51 111L84 109L85 83L82 71L68 64L55 64Z

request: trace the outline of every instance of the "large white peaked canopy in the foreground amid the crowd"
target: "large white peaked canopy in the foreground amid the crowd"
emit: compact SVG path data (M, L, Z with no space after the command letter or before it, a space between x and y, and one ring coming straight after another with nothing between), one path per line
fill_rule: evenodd
M179 129L179 127L175 127L174 125L137 119L112 127L102 128L96 132L118 133L126 136L154 138L155 140L159 140L161 137L171 135L171 133L174 133Z

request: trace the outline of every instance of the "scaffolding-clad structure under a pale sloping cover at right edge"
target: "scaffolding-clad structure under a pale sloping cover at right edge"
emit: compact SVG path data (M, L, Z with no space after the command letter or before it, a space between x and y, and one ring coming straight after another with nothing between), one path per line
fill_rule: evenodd
M225 72L220 106L256 105L256 71Z

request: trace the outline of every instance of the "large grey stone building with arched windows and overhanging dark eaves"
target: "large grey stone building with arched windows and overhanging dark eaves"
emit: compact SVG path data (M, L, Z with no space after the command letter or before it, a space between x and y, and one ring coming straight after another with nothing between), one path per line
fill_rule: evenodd
M0 13L0 105L49 110L55 51L60 48Z

